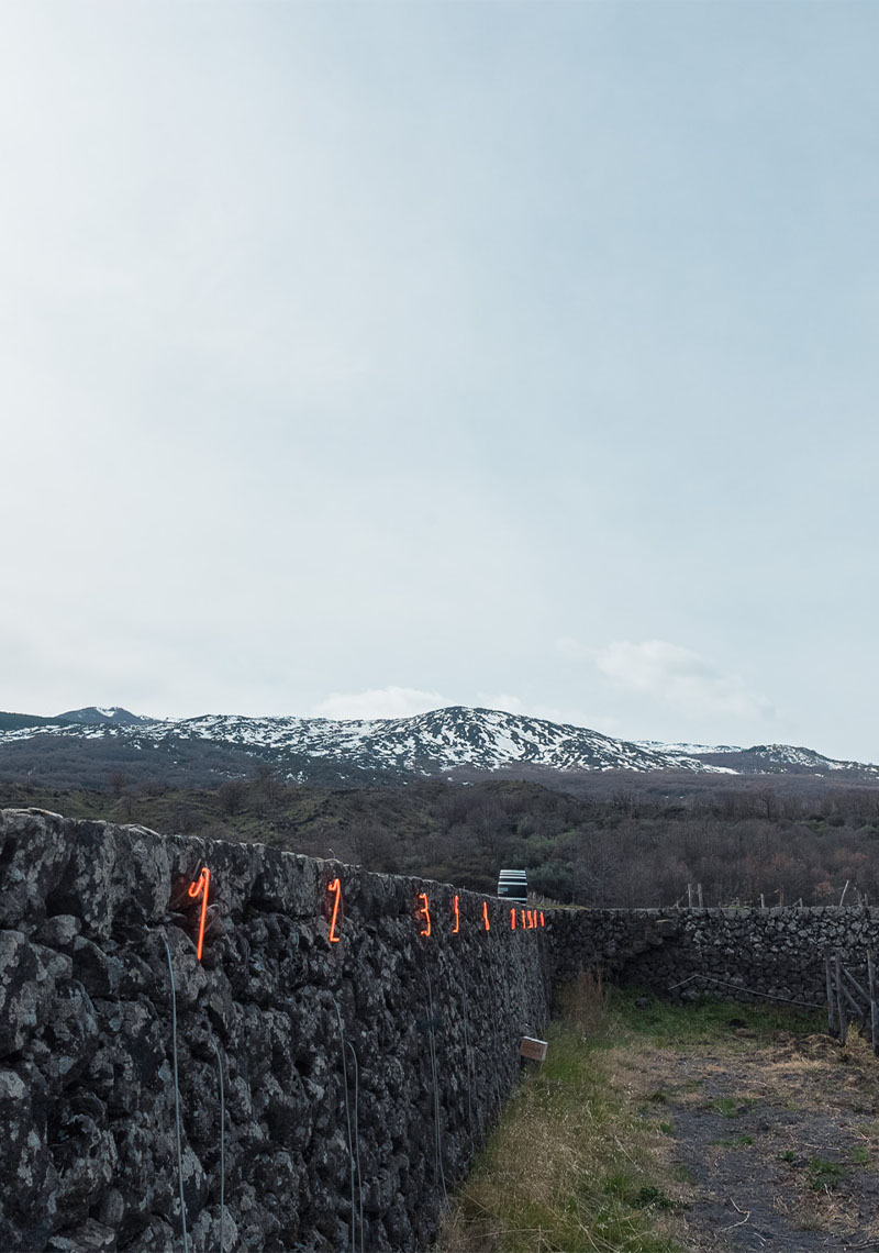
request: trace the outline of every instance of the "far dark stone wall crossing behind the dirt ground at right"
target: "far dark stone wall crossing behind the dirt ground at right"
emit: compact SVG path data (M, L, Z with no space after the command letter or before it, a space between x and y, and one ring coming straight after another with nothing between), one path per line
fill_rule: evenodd
M555 977L600 967L674 1000L716 994L826 1002L825 954L865 969L879 955L879 910L556 910L547 915Z

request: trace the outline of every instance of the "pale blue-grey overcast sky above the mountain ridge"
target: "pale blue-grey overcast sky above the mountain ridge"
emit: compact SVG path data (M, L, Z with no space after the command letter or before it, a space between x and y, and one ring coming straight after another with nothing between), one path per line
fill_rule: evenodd
M879 759L879 6L1 23L0 708Z

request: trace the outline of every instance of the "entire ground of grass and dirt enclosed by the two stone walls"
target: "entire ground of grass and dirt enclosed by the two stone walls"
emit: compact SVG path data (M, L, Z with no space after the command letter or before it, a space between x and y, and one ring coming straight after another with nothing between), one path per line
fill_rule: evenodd
M879 1249L879 1061L820 1019L581 980L437 1253Z

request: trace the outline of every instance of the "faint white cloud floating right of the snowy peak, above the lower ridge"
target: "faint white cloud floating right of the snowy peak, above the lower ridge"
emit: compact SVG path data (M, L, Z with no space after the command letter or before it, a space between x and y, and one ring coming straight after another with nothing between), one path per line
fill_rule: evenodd
M641 644L616 640L592 655L599 670L617 687L680 709L736 718L765 718L775 713L769 700L750 692L738 675L724 674L699 653L667 640L649 639Z

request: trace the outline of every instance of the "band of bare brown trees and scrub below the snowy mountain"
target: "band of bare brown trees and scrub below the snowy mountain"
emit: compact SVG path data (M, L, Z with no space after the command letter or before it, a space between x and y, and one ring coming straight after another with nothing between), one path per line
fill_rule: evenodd
M0 788L0 804L139 822L224 840L258 840L369 870L493 891L502 866L523 866L535 891L594 906L879 905L879 787L803 794L758 783L662 796L620 786L592 796L488 781L338 791L290 786L268 768L213 789L134 788L121 772L101 791Z

